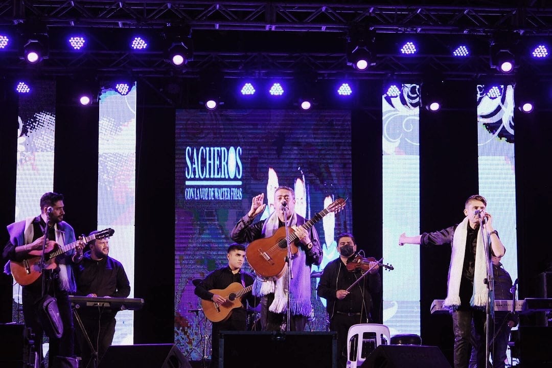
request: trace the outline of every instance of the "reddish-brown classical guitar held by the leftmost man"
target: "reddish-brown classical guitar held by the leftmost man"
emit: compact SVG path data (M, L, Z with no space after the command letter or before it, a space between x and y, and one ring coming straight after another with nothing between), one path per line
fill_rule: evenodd
M99 231L92 234L88 237L83 237L83 241L88 243L94 239L103 239L108 238L113 235L115 231L111 228ZM78 241L66 244L65 246L60 246L55 241L48 241L46 243L46 249L44 249L44 268L45 269L54 269L57 264L55 258L63 253L69 252L71 249L75 248L78 244ZM9 268L12 271L12 276L14 280L22 286L32 284L36 279L38 279L42 273L40 268L40 259L42 258L42 250L31 250L29 255L35 256L28 259L24 259L19 262L10 261Z

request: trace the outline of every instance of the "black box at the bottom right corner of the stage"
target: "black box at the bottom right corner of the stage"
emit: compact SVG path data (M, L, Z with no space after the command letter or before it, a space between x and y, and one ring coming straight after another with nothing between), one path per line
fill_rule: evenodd
M552 367L552 327L519 327L519 362L522 367Z

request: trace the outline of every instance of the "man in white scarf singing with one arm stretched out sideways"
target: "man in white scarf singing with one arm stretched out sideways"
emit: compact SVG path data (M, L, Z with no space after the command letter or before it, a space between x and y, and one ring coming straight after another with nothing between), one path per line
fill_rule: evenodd
M485 244L490 244L490 251L496 257L502 257L506 252L498 232L493 228L492 216L485 211L486 206L483 196L472 195L464 204L465 217L459 224L417 236L402 233L399 237L399 246L450 244L452 247L447 297L443 306L452 312L454 368L468 367L472 340L477 351L477 366L486 367L485 307L489 291L484 281L487 278ZM483 231L480 231L480 223L483 224Z

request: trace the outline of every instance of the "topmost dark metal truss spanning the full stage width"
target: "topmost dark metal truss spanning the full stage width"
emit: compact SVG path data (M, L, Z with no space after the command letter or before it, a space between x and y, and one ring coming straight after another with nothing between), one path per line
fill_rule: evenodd
M442 1L445 4L296 1L14 0L0 4L1 24L29 17L49 26L161 27L181 22L193 29L242 31L346 31L364 23L378 32L488 34L512 29L550 35L546 1Z

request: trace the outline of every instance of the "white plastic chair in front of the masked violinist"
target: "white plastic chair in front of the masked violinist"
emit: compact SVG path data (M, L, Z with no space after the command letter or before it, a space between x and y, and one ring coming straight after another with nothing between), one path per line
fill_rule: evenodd
M376 346L389 344L390 335L384 324L353 324L347 334L347 368L360 367Z

